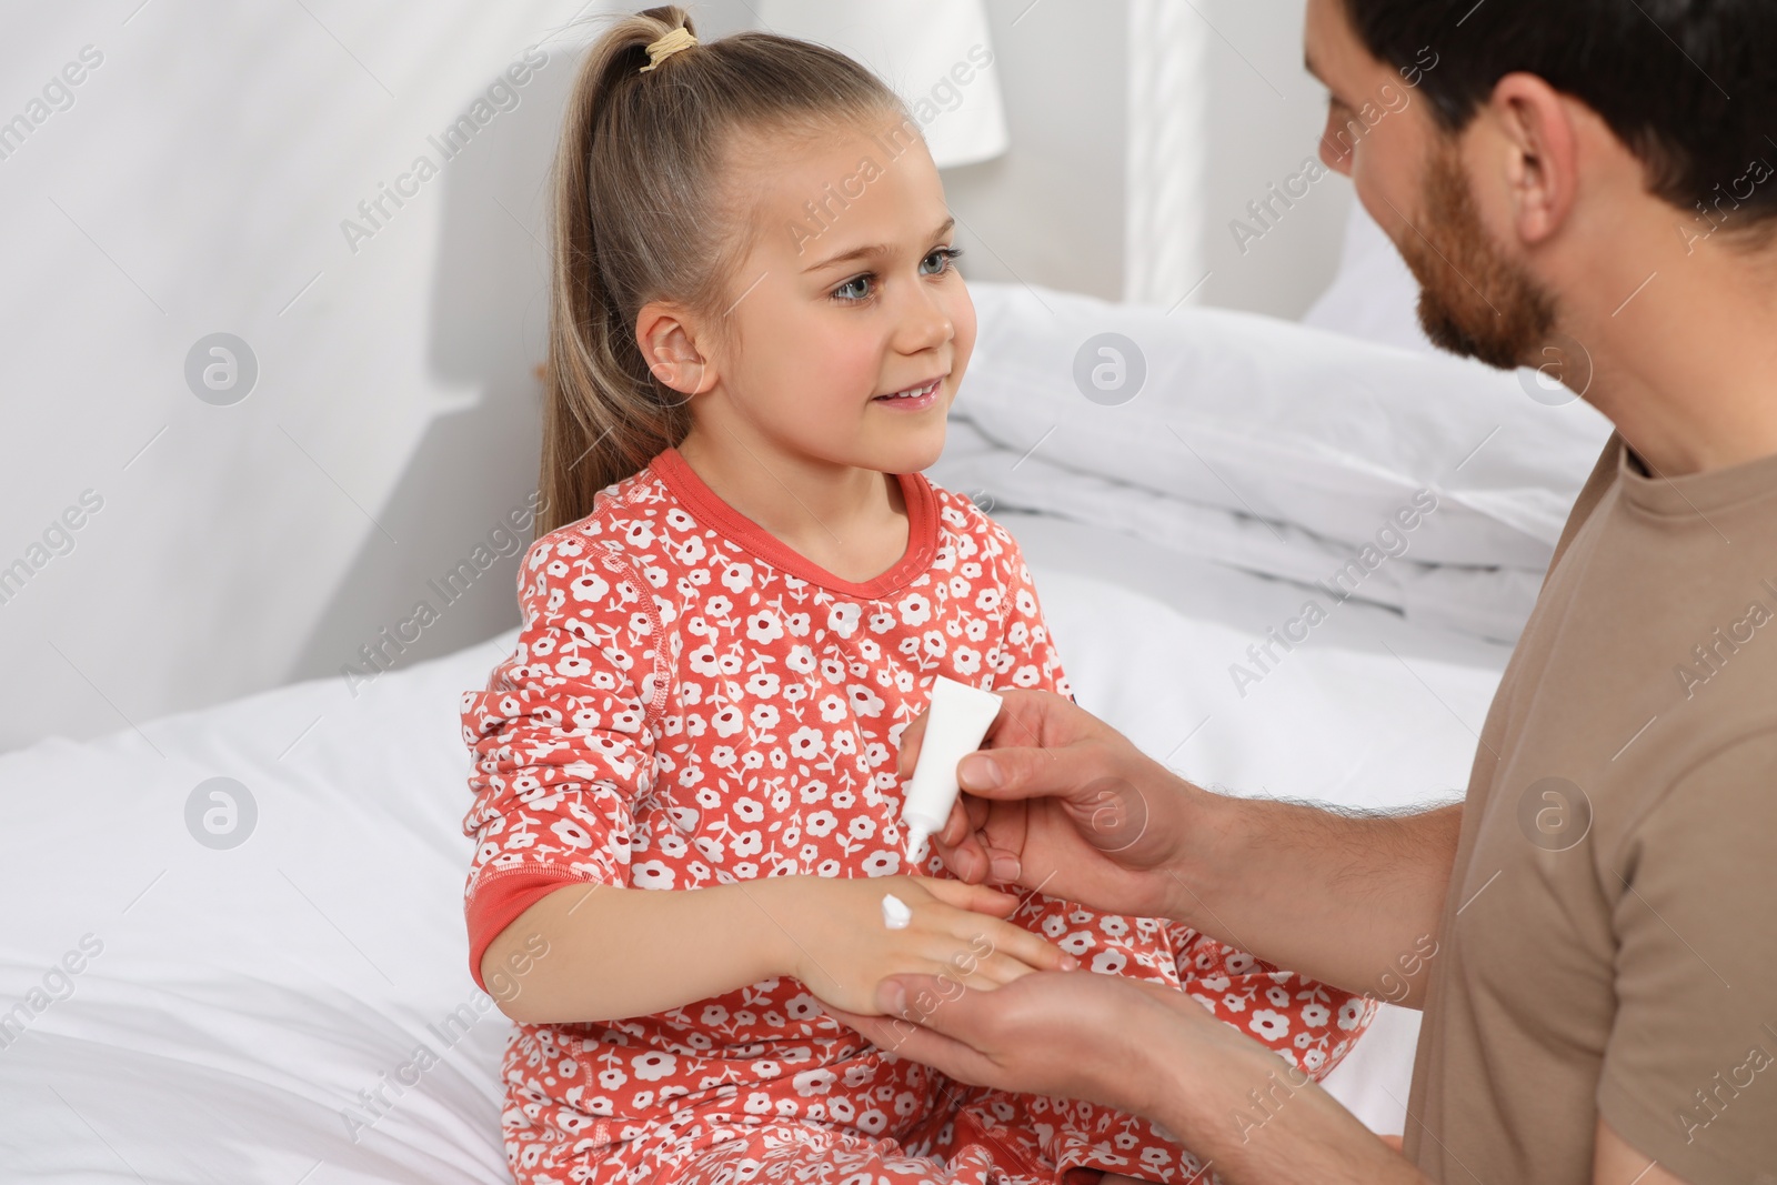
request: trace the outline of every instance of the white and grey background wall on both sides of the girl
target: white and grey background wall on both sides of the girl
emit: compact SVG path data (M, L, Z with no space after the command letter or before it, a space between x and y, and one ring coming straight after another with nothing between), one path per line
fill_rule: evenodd
M965 270L1118 297L1123 5L988 2L1013 147L949 176ZM551 36L581 7L9 9L0 121L84 46L103 60L0 158L0 569L32 569L0 602L0 748L341 677L419 600L441 616L403 663L515 624L510 556L451 604L430 581L501 542L535 489L542 185L572 71ZM695 7L705 36L752 21L745 0ZM1294 316L1331 274L1343 181L1246 256L1224 222L1311 151L1301 0L1194 9L1212 23L1199 298ZM533 43L547 64L519 105L441 162L426 137ZM341 222L421 153L439 176L354 251ZM259 368L233 405L185 377L219 330Z

